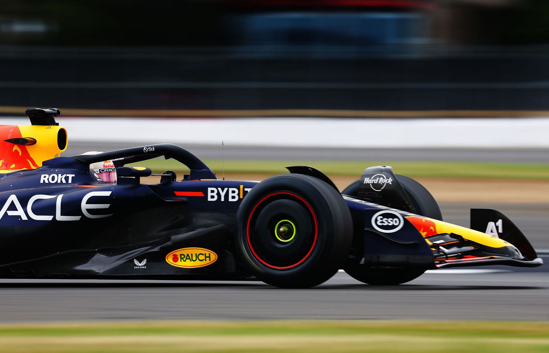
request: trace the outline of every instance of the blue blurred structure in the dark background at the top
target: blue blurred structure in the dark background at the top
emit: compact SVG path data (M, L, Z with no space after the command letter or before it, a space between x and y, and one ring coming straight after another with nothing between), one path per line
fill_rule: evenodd
M236 37L253 46L382 46L428 41L422 13L282 12L238 15Z

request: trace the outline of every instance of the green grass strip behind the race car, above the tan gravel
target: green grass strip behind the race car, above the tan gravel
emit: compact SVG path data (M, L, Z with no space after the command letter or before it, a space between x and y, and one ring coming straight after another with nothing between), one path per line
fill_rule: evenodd
M205 160L204 163L217 176L222 174L221 160ZM154 159L135 165L148 166L155 172L173 170L186 172L182 164L175 160ZM447 178L506 178L549 180L549 164L530 163L481 163L481 162L437 162L437 161L265 161L265 160L226 160L225 173L269 173L272 175L288 172L290 165L310 165L327 175L351 175L360 177L368 166L390 165L397 174L410 177Z

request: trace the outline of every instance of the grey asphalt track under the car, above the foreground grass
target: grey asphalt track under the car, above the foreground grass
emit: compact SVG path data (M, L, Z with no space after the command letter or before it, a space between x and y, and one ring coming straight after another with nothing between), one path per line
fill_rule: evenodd
M361 284L339 272L311 289L278 289L261 282L3 280L0 323L549 320L549 273L459 273L425 273L393 287Z

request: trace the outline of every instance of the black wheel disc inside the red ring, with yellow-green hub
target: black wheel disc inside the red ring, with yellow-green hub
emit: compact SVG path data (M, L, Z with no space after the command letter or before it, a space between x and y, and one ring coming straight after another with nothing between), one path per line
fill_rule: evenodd
M305 199L290 192L266 195L251 210L248 248L262 265L276 270L299 266L312 253L318 222Z

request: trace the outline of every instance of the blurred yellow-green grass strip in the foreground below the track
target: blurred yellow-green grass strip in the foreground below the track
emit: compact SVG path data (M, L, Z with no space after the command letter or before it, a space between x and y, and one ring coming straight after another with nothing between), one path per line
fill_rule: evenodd
M10 353L549 352L549 322L264 321L0 326Z

